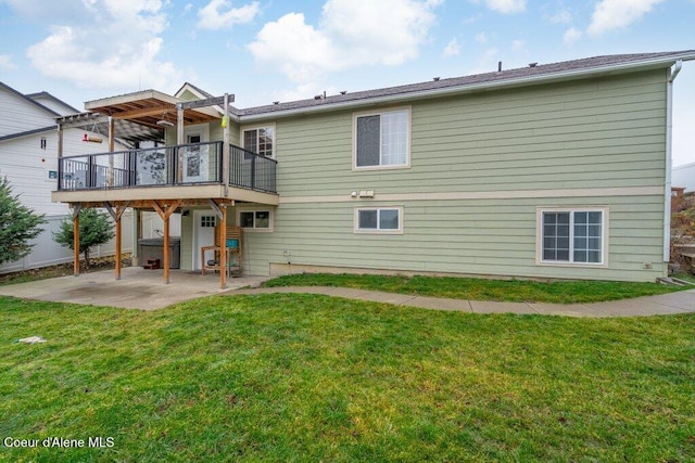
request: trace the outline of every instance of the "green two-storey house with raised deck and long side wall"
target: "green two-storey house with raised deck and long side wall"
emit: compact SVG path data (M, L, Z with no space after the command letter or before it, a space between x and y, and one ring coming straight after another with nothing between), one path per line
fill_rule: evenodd
M159 127L166 147L111 156L111 180L88 185L71 179L110 156L63 152L53 200L153 209L165 228L180 211L186 270L222 220L244 228L248 274L654 281L671 86L693 59L598 56L245 110L188 83L91 101Z

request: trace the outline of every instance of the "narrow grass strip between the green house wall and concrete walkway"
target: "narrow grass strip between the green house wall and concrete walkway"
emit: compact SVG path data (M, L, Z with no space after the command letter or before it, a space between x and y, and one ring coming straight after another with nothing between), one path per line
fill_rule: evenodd
M483 280L405 275L301 273L269 280L265 286L341 286L417 296L508 303L587 304L654 296L686 290L658 283L606 281Z

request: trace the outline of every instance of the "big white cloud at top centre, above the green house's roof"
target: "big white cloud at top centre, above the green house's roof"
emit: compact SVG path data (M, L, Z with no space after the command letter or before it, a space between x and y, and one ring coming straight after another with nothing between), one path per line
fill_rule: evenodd
M317 26L301 13L267 23L248 46L296 82L363 65L400 65L428 39L441 0L328 0Z

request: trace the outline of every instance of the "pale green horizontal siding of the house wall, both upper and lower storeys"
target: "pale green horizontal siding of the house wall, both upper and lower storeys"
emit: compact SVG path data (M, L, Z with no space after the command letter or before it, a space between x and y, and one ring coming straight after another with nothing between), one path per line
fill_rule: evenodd
M268 274L274 263L291 263L556 279L664 276L664 195L654 192L665 182L667 75L650 70L255 121L276 127L280 204L273 232L244 234L244 272ZM409 167L356 170L354 114L403 107L410 112ZM603 191L616 188L633 190L617 196ZM563 195L577 189L593 193ZM372 190L374 200L352 197L362 190ZM490 197L548 190L556 191L552 197ZM486 198L424 200L427 193ZM393 194L414 196L384 200ZM292 201L306 196L305 203ZM403 233L355 233L355 207L402 208ZM536 263L538 210L592 207L608 216L606 265Z

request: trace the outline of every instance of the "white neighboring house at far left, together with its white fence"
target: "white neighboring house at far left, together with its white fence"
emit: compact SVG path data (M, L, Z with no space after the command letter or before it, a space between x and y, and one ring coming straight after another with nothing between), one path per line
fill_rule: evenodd
M48 223L36 240L31 255L16 262L7 262L0 272L24 270L70 261L72 253L53 242L51 231L70 209L66 204L51 202L51 191L58 181L58 151L61 134L56 117L79 113L67 103L47 92L23 94L0 82L0 176L7 177L22 204L45 214ZM101 140L101 143L83 140ZM108 133L91 124L88 129L67 129L62 143L71 153L109 151ZM125 145L116 143L117 149ZM100 250L94 253L100 254Z

